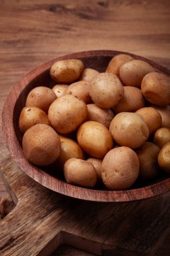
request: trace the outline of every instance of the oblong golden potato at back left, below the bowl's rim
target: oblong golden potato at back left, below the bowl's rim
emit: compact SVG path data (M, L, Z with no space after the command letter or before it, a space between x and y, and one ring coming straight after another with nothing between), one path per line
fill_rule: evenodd
M55 82L70 84L79 78L83 68L79 59L56 61L50 68L50 76Z

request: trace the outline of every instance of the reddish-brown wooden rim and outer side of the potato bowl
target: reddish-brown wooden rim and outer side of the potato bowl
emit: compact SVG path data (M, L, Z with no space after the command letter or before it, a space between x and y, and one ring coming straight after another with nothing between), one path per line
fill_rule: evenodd
M98 51L83 51L79 53L71 53L69 55L64 55L57 57L46 63L36 67L29 73L27 73L22 79L13 86L11 92L5 99L2 112L2 129L7 148L17 165L28 174L29 177L37 181L44 187L56 191L62 195L67 195L69 197L74 197L77 199L83 199L86 201L97 201L97 202L124 202L124 201L134 201L139 199L146 199L149 197L154 197L156 195L161 195L170 191L170 178L167 178L163 181L159 181L153 185L148 185L146 187L136 188L136 189L127 189L120 191L108 191L108 190L95 190L95 189L86 189L83 187L77 187L70 185L65 181L61 181L56 177L52 177L47 172L44 172L37 166L31 164L22 151L22 147L19 145L17 136L15 135L15 130L13 127L13 108L15 102L22 92L22 90L29 84L33 79L35 79L41 73L44 73L50 69L50 66L59 60L62 59L81 59L83 57L99 57L99 56L108 56L114 57L118 54L128 54L134 57L135 59L140 59L154 65L159 71L163 71L167 75L170 75L170 70L139 55L134 55L132 53L126 53L122 51L110 51L110 50L98 50Z

